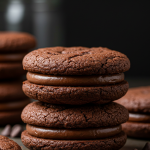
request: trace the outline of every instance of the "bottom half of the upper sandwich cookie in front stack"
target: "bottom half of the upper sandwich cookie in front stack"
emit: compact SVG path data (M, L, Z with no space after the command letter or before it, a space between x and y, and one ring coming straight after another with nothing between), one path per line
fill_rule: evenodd
M82 105L86 103L108 103L126 94L129 84L123 81L114 85L96 87L45 86L23 82L24 93L36 100L51 104Z

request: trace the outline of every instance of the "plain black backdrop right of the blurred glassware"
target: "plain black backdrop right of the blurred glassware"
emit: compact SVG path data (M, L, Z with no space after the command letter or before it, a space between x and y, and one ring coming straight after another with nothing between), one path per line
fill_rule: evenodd
M150 1L66 1L66 45L104 46L126 54L126 75L150 77Z

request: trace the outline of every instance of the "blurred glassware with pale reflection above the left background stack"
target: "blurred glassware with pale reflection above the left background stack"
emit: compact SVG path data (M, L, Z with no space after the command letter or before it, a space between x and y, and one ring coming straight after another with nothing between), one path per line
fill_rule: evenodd
M37 48L64 45L62 0L0 0L0 31L33 34Z

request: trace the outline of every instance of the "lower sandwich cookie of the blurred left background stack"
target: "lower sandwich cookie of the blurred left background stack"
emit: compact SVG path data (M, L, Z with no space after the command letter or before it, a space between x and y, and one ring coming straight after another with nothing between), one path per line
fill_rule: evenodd
M30 103L21 87L21 80L0 83L0 125L21 122L22 109Z

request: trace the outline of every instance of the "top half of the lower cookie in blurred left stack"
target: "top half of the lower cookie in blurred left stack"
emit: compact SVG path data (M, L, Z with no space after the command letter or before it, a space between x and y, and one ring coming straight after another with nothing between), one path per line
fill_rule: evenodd
M22 101L26 99L26 95L22 91L21 80L13 80L0 83L0 102Z

